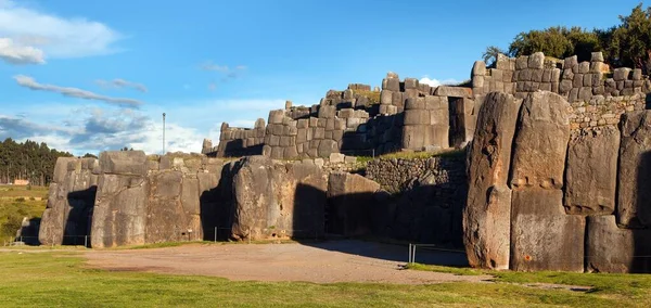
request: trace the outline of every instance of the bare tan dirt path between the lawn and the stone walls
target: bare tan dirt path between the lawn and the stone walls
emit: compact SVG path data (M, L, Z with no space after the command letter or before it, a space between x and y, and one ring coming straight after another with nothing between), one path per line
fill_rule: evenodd
M237 281L382 282L403 284L481 282L490 277L400 270L407 248L360 241L316 244L186 245L132 251L91 251L87 265L117 271L222 277ZM420 253L422 259L456 265L463 255Z

